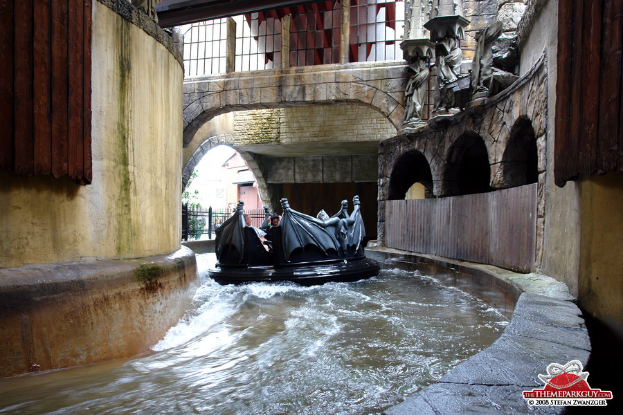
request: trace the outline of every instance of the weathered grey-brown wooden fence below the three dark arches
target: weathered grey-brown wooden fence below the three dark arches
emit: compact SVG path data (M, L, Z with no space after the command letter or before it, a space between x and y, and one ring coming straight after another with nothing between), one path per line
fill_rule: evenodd
M536 183L491 193L387 201L389 248L534 270Z

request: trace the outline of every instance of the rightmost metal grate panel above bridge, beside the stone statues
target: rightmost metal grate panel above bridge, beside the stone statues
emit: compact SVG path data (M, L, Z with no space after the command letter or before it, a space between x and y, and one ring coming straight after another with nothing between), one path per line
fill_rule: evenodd
M352 0L349 62L402 59L404 1Z

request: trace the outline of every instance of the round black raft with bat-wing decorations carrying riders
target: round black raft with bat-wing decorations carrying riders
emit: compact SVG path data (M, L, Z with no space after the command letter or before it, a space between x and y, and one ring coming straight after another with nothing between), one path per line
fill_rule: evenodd
M271 228L271 241L264 241L255 228L245 226L244 203L216 231L217 264L208 275L220 284L292 281L301 285L350 282L374 277L381 269L363 252L365 230L359 196L347 214L347 201L329 217L321 210L317 218L296 212L281 199L283 216ZM268 209L264 207L269 216ZM264 223L267 223L264 220Z

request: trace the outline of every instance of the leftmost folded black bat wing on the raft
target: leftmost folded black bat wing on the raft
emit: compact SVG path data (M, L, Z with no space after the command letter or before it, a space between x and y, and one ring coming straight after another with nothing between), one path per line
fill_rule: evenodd
M242 201L235 212L216 230L215 252L225 264L240 264L244 252L244 216Z

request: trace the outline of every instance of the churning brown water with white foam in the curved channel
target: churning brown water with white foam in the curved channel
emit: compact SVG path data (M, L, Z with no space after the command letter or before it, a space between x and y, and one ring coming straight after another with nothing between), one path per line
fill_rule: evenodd
M0 379L0 414L380 414L507 320L401 270L349 284L202 285L153 353Z

